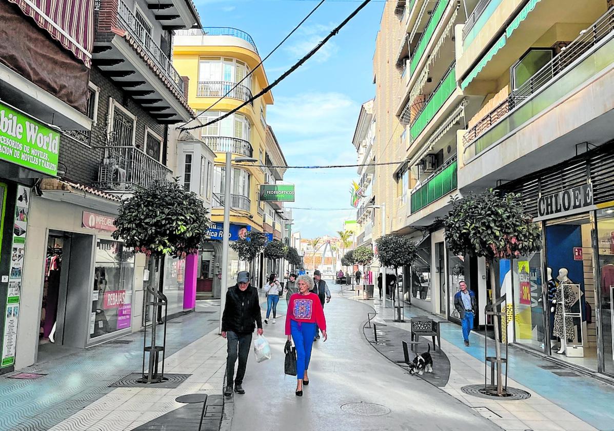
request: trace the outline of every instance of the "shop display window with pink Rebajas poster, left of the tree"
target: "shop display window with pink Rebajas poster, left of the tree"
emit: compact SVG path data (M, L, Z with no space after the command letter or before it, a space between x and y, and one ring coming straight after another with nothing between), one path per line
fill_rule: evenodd
M119 241L98 239L91 292L90 338L130 328L134 254Z

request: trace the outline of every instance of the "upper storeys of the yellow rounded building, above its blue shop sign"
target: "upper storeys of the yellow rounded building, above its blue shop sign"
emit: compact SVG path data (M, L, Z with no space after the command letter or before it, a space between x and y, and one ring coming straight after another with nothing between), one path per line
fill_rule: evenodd
M188 77L188 104L203 123L232 111L268 85L260 66L236 88L236 83L260 63L257 47L249 34L233 28L203 28L178 32L173 64ZM230 93L229 93L230 91ZM225 96L228 93L228 96ZM222 99L220 99L222 98ZM269 92L220 122L195 134L216 152L213 181L213 222L223 221L223 177L226 152L252 157L257 163L234 163L231 180L230 223L263 231L260 184L265 183L266 106L273 104ZM203 112L208 110L207 112ZM258 205L261 206L258 211Z

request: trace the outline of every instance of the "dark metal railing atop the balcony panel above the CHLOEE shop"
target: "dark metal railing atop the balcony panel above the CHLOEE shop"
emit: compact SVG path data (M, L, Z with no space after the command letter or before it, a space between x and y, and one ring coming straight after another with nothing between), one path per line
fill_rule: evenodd
M552 60L546 63L541 69L530 77L516 90L495 106L492 111L484 115L467 133L463 136L463 144L467 147L481 135L486 133L497 124L502 118L506 117L510 111L523 104L531 95L547 87L550 81L566 71L569 66L584 53L588 52L599 41L610 35L614 31L614 8L608 10L592 26L581 32L573 42L564 47L561 52L555 55Z

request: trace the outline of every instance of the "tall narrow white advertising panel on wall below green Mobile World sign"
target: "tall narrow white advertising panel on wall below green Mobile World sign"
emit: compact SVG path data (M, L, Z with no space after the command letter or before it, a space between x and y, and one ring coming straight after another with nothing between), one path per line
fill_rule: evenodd
M6 188L4 189L6 193ZM4 317L4 342L2 343L2 367L15 363L17 347L17 323L21 302L21 276L23 275L23 258L26 247L26 231L29 216L29 188L17 186L17 204L15 206L15 228L11 247L9 273L9 292L6 298L6 316Z

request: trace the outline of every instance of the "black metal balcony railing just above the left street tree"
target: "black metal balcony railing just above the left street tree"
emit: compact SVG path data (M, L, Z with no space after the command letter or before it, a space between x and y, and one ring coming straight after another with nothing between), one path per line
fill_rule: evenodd
M157 182L171 181L173 171L136 147L99 147L102 149L97 187L122 192L150 188Z

